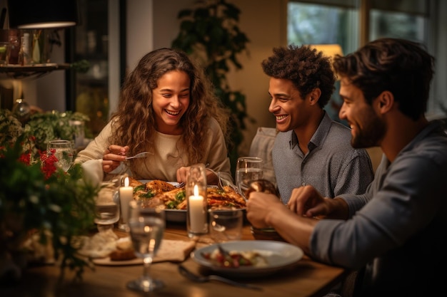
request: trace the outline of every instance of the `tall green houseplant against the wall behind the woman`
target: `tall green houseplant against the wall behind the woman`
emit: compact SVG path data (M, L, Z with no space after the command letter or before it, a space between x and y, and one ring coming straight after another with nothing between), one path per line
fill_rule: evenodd
M229 154L234 174L238 158L238 146L243 141L245 120L254 121L246 111L246 96L231 90L226 78L231 66L240 70L238 54L246 52L249 42L245 33L238 28L241 11L225 0L196 1L194 9L184 9L178 14L179 35L172 41L179 48L201 61L206 74L214 84L216 95L232 113L231 141Z

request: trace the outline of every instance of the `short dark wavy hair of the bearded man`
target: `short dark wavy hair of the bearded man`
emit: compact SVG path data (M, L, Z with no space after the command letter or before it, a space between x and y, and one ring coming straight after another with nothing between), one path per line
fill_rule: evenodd
M333 67L361 89L368 104L388 90L399 110L417 120L427 110L434 60L421 43L380 38L347 56L336 56Z

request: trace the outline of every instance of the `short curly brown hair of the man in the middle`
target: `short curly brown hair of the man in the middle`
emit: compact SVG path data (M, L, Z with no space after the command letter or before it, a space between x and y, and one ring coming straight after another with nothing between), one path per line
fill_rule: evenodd
M336 76L331 68L331 59L310 46L273 48L273 56L262 61L264 73L272 78L291 80L301 98L315 88L321 90L318 105L323 108L335 90Z

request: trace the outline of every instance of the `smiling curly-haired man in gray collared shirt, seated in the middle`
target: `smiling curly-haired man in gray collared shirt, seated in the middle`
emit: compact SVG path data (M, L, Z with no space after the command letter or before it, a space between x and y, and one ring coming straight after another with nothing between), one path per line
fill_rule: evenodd
M310 46L290 45L273 48L261 65L270 77L268 110L279 131L272 160L282 202L306 184L326 197L365 192L373 180L368 152L353 149L351 130L323 109L335 90L330 58Z

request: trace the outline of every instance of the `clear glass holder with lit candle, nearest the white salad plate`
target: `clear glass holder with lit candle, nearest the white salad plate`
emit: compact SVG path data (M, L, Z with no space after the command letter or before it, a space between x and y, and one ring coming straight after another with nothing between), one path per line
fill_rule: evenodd
M208 233L206 187L205 165L192 165L189 169L185 186L186 199L188 199L186 229L190 238Z

